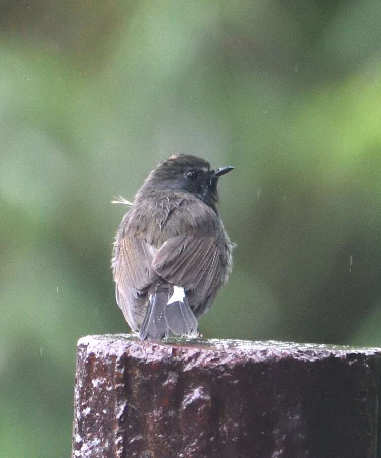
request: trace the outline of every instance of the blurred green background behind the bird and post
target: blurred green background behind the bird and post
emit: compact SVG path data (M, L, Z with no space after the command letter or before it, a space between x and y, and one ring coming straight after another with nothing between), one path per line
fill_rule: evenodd
M381 3L0 0L0 454L68 457L79 337L156 163L233 165L206 338L381 346Z

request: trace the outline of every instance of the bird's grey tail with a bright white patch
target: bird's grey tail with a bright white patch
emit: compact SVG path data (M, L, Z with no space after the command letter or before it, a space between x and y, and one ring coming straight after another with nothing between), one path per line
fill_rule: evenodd
M183 288L161 286L150 296L147 312L140 326L142 340L170 336L198 336L198 322Z

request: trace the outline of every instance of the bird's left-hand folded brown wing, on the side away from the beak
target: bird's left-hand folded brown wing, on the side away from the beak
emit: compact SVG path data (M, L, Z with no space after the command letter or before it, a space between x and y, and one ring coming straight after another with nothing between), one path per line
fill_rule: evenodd
M155 248L144 241L122 238L114 249L116 302L130 327L138 331L147 308L147 293L157 274L151 264Z

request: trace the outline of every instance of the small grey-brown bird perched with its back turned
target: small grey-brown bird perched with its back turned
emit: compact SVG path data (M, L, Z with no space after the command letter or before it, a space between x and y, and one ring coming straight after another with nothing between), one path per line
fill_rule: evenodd
M138 190L114 243L116 301L142 340L198 336L232 270L235 246L218 216L217 182L233 167L210 169L178 154L159 163Z

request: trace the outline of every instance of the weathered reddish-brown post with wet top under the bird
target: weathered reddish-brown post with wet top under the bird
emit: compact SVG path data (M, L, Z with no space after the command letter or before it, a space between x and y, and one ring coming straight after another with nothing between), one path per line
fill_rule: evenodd
M84 337L73 456L375 458L380 355L280 342Z

